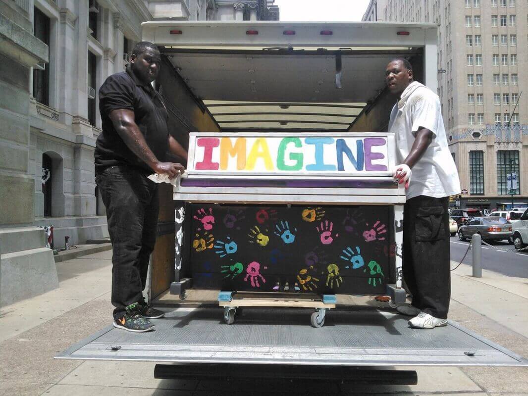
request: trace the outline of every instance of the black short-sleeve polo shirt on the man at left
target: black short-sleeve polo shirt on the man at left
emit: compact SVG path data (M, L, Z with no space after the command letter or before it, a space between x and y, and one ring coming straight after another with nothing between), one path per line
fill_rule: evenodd
M96 173L115 165L152 171L126 146L114 128L109 115L112 110L117 109L134 111L136 124L148 147L159 161L165 161L168 149L168 114L163 99L152 86L138 80L130 67L127 67L126 71L108 77L99 89L102 132L96 142Z

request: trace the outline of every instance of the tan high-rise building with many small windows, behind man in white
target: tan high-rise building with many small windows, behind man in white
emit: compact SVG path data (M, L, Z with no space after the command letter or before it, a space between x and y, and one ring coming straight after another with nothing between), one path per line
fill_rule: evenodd
M438 95L463 208L511 206L510 172L513 201L528 203L527 18L522 0L371 0L363 16L439 24Z

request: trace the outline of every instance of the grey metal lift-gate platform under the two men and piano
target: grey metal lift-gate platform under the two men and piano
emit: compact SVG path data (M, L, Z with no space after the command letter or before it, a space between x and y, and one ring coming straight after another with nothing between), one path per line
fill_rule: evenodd
M324 327L313 328L311 312L244 308L235 324L226 325L222 308L177 308L154 319L153 332L108 326L56 357L161 363L528 365L523 357L453 322L433 331L417 330L391 312L335 309Z

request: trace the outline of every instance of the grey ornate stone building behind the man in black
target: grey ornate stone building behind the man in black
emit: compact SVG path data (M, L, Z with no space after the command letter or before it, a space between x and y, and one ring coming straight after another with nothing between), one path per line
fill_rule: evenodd
M65 237L78 244L108 235L93 165L97 92L124 70L141 23L278 19L273 3L0 0L1 305L58 285L37 227L53 225L55 248Z

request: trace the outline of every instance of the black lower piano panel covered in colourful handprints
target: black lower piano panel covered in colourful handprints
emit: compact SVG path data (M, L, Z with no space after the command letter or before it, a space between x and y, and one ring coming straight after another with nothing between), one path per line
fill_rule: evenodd
M196 288L378 294L392 283L389 206L191 204L186 216Z

